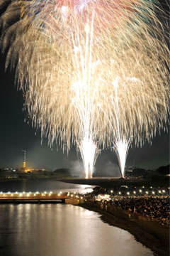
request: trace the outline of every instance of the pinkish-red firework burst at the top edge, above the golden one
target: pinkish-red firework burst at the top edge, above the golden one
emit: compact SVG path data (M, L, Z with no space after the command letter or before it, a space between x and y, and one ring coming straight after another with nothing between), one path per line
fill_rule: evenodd
M22 1L21 16L26 17L28 26L36 26L40 31L48 33L62 33L64 27L69 31L74 31L78 25L79 28L93 16L94 10L97 14L94 23L96 33L110 30L117 30L120 26L136 18L136 14L145 14L147 1L141 0L42 0L42 1ZM147 9L150 11L151 9ZM145 14L146 15L146 14ZM147 14L148 16L148 14ZM54 22L53 22L54 21ZM107 28L106 28L107 24Z

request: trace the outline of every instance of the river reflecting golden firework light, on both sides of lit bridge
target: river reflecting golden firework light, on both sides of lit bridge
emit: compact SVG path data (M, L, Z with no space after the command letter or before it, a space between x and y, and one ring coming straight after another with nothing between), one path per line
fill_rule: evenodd
M60 181L0 182L0 191L90 191ZM0 204L1 256L151 256L128 231L98 213L62 203Z

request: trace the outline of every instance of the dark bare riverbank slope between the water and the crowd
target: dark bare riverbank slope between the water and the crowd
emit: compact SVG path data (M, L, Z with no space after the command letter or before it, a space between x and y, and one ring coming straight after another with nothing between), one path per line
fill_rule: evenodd
M102 210L97 203L80 203L79 206L93 210L101 214L101 220L109 225L127 230L135 236L137 242L141 242L150 248L154 255L169 256L169 228L163 227L155 221L128 211L114 208Z

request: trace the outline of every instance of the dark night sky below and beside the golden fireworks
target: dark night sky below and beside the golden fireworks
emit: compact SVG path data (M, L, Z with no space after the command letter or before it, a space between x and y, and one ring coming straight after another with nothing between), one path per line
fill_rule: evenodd
M1 12L0 12L1 14ZM5 58L0 55L0 167L21 167L22 150L27 151L27 166L49 168L52 170L72 167L77 171L82 169L81 157L73 147L63 154L57 146L47 145L47 139L42 140L40 131L24 122L26 112L23 112L23 95L14 86L14 73L4 71ZM81 166L79 166L80 164ZM157 169L169 164L169 132L161 132L154 138L152 146L145 144L142 149L132 144L127 159L127 166L137 166L146 169ZM113 151L101 151L96 161L96 169L105 170L107 174L119 175L118 164Z

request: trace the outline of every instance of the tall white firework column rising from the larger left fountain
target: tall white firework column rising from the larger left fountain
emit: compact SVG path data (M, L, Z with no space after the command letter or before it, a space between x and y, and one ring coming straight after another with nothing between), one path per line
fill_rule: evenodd
M91 26L89 26L89 23L86 23L85 41L84 38L80 38L81 34L79 33L76 33L75 37L72 35L74 44L73 63L79 78L73 84L75 97L72 100L79 117L79 124L81 125L81 141L78 143L78 147L84 162L86 178L92 178L94 164L99 154L99 150L94 142L96 131L93 129L96 122L94 114L96 112L95 100L98 93L98 83L96 83L96 88L91 93L91 77L96 66L92 59L93 25L94 16L92 17Z

